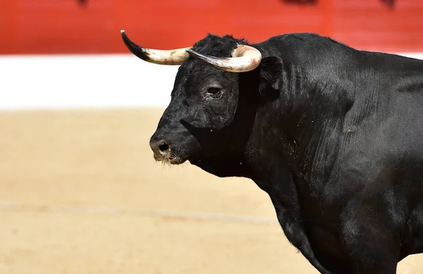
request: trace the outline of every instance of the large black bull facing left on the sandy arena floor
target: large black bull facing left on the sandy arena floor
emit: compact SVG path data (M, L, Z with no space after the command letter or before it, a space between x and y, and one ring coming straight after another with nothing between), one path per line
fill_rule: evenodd
M262 58L242 73L199 57L238 44L208 35L188 49L154 158L254 180L321 273L396 273L423 251L423 61L313 34L251 44Z

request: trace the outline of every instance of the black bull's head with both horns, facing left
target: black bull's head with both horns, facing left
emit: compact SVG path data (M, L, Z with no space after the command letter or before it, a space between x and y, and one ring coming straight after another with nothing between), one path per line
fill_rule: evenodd
M154 158L171 164L188 160L214 174L231 164L222 158L239 165L262 85L261 73L252 73L262 62L260 51L244 40L214 35L190 48L146 49L121 34L142 60L180 65L171 103L150 140Z

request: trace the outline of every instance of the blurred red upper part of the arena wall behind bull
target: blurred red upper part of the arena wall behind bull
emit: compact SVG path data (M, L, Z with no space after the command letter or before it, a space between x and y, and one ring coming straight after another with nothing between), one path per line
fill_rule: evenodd
M360 49L423 51L423 1L1 0L0 54L127 53L120 30L155 49L211 32L260 42L317 32Z

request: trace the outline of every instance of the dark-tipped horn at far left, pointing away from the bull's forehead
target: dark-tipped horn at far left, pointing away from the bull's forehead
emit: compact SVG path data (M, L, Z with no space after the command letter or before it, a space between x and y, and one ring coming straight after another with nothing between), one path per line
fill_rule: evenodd
M132 42L126 35L125 30L121 30L121 35L123 42L130 52L149 63L156 63L159 65L180 65L189 56L186 51L189 48L172 49L168 51L160 49L146 49Z

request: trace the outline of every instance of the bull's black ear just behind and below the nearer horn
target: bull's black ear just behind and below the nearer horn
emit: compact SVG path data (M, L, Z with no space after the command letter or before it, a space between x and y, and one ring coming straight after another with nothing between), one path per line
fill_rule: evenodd
M270 56L262 59L259 66L259 92L268 99L277 97L282 88L283 62L282 58ZM276 99L276 98L275 98Z

